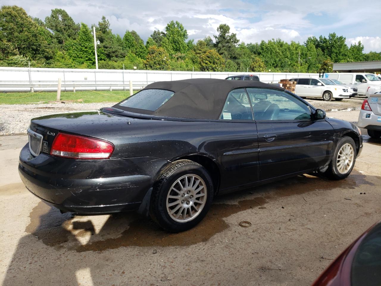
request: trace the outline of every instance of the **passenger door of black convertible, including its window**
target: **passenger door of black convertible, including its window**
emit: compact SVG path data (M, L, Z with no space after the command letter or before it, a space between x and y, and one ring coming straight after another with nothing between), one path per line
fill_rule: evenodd
M260 179L296 174L327 164L334 131L315 120L309 106L289 92L247 88L258 130Z

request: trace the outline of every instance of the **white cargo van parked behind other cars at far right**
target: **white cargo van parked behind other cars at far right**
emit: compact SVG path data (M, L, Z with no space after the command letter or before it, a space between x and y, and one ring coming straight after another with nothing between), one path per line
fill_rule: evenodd
M360 72L329 72L323 76L325 79L336 79L344 82L344 84L353 84L357 86L357 93L365 95L368 88L375 85L381 85L381 80L374 74Z

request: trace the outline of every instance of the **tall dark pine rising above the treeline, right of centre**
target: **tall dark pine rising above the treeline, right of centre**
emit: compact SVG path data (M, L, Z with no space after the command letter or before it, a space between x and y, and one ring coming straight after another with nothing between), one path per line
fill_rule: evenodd
M218 35L216 39L216 50L224 59L235 58L235 47L239 40L237 35L230 33L230 27L227 24L221 24L217 28Z

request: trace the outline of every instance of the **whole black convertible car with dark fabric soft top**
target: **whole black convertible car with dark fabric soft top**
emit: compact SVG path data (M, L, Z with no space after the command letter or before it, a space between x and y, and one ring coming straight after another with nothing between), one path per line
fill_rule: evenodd
M26 187L62 212L139 210L169 231L194 227L213 197L318 171L347 177L353 124L274 85L155 82L113 107L33 118L20 153Z

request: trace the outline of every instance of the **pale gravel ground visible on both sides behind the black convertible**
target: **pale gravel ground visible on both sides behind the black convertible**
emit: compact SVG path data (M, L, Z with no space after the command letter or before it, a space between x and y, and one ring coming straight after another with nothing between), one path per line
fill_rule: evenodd
M344 99L342 101L323 101L309 99L316 108L326 111L339 109L360 109L364 97ZM48 103L48 104L1 104L0 135L25 134L31 117L67 111L96 110L115 103Z

